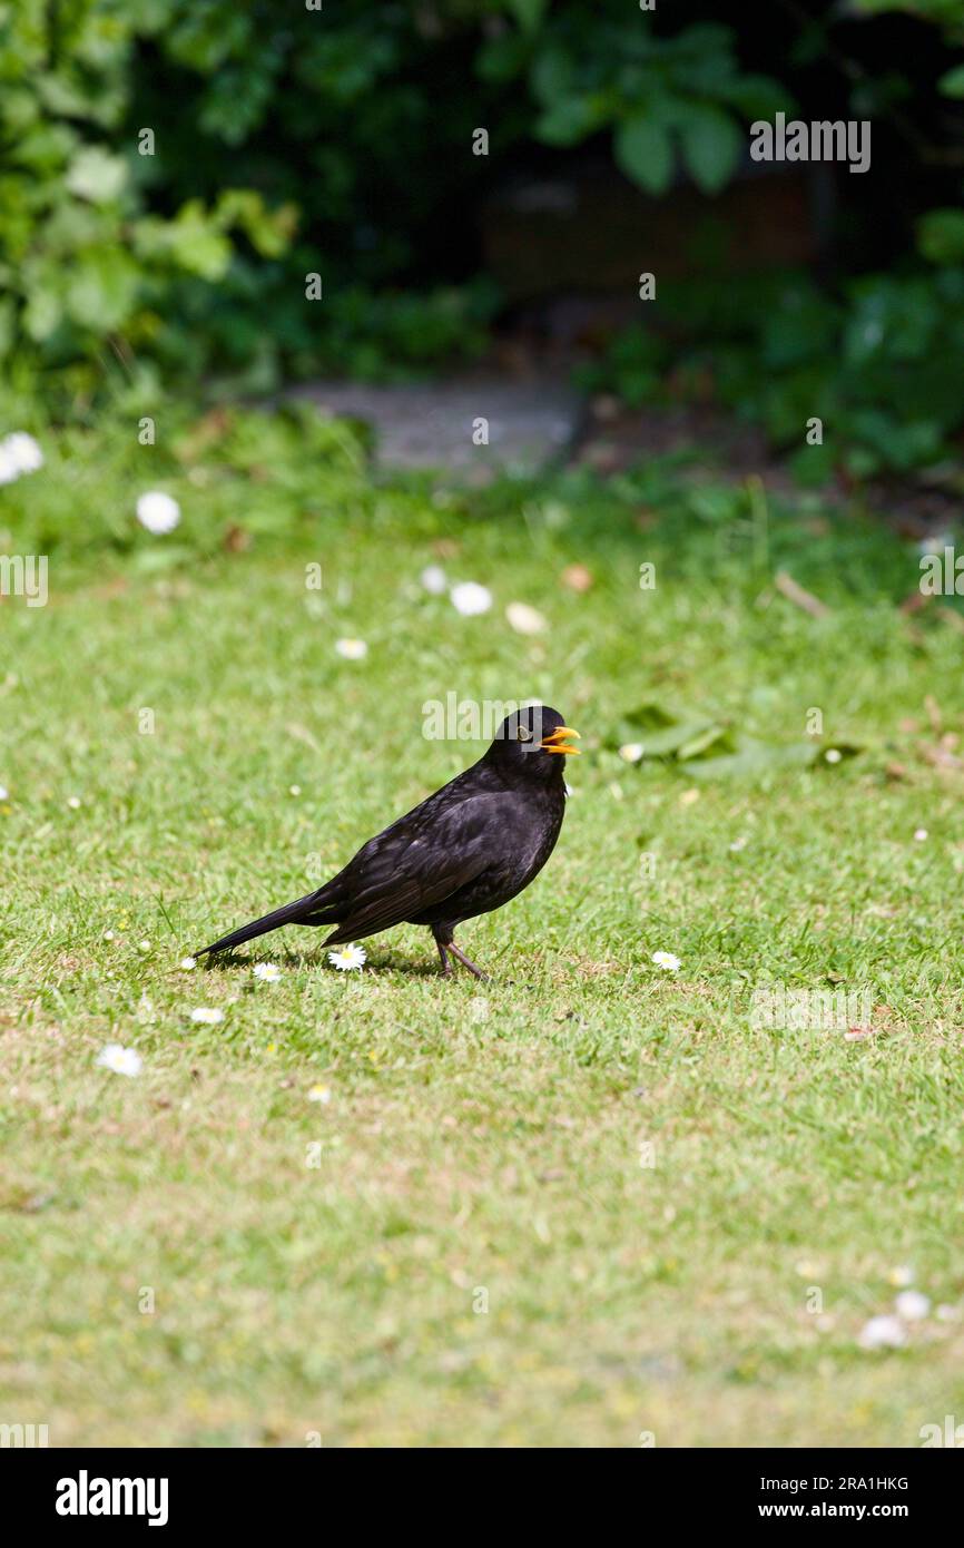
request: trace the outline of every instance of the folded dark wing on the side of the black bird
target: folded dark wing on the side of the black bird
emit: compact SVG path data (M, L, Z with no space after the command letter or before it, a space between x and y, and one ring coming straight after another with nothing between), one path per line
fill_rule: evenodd
M492 862L504 820L495 796L469 796L424 822L388 828L348 867L351 902L328 941L357 941L443 902ZM325 941L325 944L328 944Z

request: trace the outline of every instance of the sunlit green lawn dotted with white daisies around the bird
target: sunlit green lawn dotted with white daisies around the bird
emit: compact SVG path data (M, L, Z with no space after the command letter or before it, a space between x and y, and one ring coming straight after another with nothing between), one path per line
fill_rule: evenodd
M750 571L741 498L675 469L367 486L231 554L179 534L155 574L145 539L74 562L65 486L48 607L0 605L2 1420L99 1446L916 1446L962 1412L959 635L897 611L916 554L856 512L769 512ZM494 611L426 594L430 562ZM828 618L774 594L780 565ZM551 632L512 633L514 599ZM362 974L292 929L179 969L478 755L421 734L449 692L540 697L586 752L546 872L460 933L492 981L443 981L413 927ZM630 766L653 700L772 746L819 707L860 752ZM871 1029L761 1029L767 985L867 989ZM138 1079L97 1068L111 1040ZM904 1265L932 1313L862 1348Z

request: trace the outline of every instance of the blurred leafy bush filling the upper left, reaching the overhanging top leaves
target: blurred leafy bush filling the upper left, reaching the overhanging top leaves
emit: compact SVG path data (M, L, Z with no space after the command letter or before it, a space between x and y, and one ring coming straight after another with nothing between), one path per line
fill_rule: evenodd
M111 359L147 389L265 390L470 356L497 296L439 257L449 198L489 172L480 122L494 152L611 130L650 192L679 149L716 190L738 115L785 104L730 29L658 37L616 0L385 5L376 26L367 0L8 0L0 85L0 350L80 396Z

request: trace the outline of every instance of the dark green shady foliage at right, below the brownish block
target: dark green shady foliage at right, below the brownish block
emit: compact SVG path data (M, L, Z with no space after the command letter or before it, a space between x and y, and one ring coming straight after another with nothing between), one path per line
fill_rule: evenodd
M802 483L959 457L964 268L870 274L829 296L808 276L684 282L665 330L624 331L580 381L631 404L721 402L791 450ZM802 444L808 421L822 444Z

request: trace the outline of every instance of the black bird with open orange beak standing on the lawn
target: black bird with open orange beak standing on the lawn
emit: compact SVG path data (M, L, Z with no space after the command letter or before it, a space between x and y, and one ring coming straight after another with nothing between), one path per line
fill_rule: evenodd
M336 924L325 946L361 941L393 924L427 924L446 977L452 954L484 978L455 944L455 927L528 887L555 848L566 799L563 763L579 752L568 737L579 732L543 704L508 715L478 763L368 839L323 887L204 950L226 952L282 924Z

